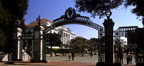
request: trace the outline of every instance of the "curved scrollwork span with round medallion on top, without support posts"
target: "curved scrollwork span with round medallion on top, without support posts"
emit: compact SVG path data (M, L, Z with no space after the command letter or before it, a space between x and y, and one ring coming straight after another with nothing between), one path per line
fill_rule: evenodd
M101 34L103 34L103 27L92 22L89 17L81 16L80 14L76 14L75 10L73 8L68 8L65 12L65 15L62 15L60 18L54 20L54 24L47 27L45 29L46 32L54 29L55 27L66 25L66 24L81 24L86 25L89 27L92 27ZM102 35L101 35L102 36Z

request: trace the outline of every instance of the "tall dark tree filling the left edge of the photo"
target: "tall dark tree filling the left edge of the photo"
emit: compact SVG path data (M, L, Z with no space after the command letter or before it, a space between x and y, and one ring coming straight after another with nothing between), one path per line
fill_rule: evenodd
M20 27L24 28L24 15L28 8L28 0L0 0L0 28L6 37L4 51L11 53L13 50L12 33L15 22L19 19L21 21ZM9 49L7 49L9 48Z

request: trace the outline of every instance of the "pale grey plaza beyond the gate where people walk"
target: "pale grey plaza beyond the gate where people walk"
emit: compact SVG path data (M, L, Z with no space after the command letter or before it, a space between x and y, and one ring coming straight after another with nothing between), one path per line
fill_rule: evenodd
M123 57L123 64L127 64L126 63L126 58L125 58L125 54ZM115 60L115 59L113 59ZM92 58L89 55L86 55L84 57L81 56L76 56L74 61L70 60L68 56L55 56L55 57L50 57L47 56L47 61L48 62L82 62L82 63L97 63L98 62L98 55L94 55ZM130 62L130 64L135 65L135 59L134 56L132 58L132 62Z

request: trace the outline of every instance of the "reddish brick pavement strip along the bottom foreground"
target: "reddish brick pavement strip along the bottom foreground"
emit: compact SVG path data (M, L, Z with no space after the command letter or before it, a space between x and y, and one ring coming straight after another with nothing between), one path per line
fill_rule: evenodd
M0 63L0 66L96 66L95 63L82 63L82 62L48 62L48 63L14 63L14 64L4 64ZM122 65L122 66L135 66L135 65Z

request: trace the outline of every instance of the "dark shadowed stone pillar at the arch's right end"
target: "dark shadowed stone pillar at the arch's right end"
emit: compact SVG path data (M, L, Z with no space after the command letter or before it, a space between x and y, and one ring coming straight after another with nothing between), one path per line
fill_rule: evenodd
M105 19L105 63L113 64L113 26L114 22L112 19Z

